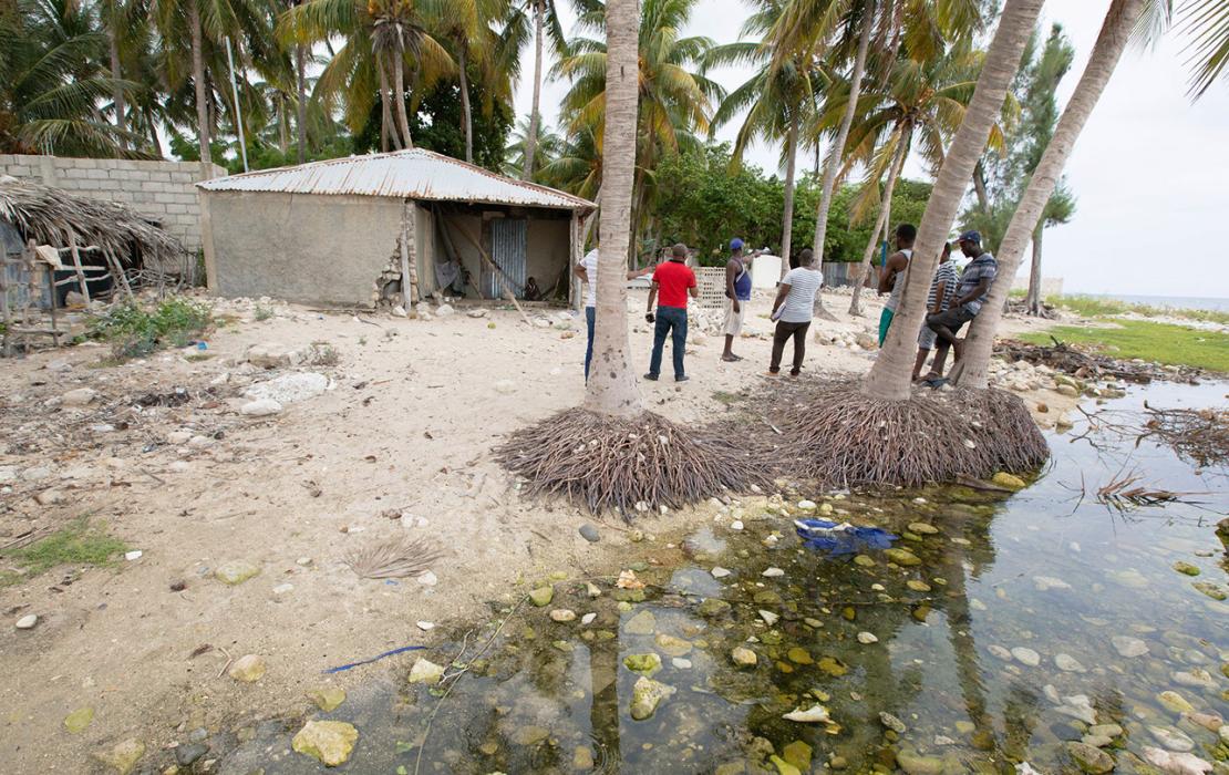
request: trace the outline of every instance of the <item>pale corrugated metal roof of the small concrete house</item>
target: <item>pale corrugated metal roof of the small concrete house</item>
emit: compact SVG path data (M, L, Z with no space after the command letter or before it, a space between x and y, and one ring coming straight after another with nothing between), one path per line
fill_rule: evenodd
M423 149L245 172L197 183L206 192L356 194L435 201L591 210L594 203L546 185L505 178Z

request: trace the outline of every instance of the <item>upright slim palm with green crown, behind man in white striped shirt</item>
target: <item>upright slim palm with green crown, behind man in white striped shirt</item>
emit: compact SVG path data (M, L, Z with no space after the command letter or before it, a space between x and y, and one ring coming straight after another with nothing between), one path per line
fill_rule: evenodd
M782 141L785 167L784 214L782 217L782 255L790 255L794 228L794 174L798 161L799 131L814 109L819 70L801 53L774 56L767 34L777 27L783 7L775 0L742 26L744 36L757 36L761 43L730 43L714 48L707 66L753 65L755 74L742 86L730 92L713 114L710 131L746 112L734 144L732 162L741 163L747 145L757 139Z

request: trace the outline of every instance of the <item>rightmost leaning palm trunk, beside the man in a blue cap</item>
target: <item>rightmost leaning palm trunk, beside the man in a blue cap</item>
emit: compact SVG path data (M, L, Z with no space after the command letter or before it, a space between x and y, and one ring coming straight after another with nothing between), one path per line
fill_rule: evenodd
M1131 29L1144 7L1144 0L1113 0L1105 15L1101 33L1089 56L1084 74L1072 93L1063 115L1058 119L1054 135L1046 146L1037 168L1029 181L1020 204L1016 205L1011 222L1008 225L1003 244L999 246L998 276L1003 281L991 287L989 300L982 306L982 312L973 318L968 339L965 343L965 357L954 370L954 380L961 387L984 388L989 370L991 352L994 349L994 332L1003 317L1003 301L1011 290L1010 278L1015 276L1020 260L1024 258L1024 246L1034 227L1045 212L1046 203L1058 185L1058 177L1067 165L1075 140L1079 139L1084 124L1096 107L1105 91L1110 76L1113 75L1122 52L1127 48Z

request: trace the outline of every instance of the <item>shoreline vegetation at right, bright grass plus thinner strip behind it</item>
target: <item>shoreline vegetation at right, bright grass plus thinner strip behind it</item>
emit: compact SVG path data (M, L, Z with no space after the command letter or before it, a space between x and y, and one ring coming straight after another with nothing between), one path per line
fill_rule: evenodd
M1227 312L1155 307L1094 296L1056 296L1046 303L1101 324L1056 322L1043 330L1020 335L1020 340L1048 345L1053 337L1123 360L1142 359L1164 366L1229 373L1229 330L1212 329L1229 327ZM1192 325L1184 325L1184 321Z

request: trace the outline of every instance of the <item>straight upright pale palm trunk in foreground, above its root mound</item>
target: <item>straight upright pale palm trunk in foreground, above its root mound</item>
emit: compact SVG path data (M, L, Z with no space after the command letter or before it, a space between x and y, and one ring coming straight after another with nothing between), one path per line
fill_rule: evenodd
M644 410L627 360L627 248L632 233L632 178L635 169L637 0L606 4L606 129L602 165L601 253L594 367L585 408L630 416Z

